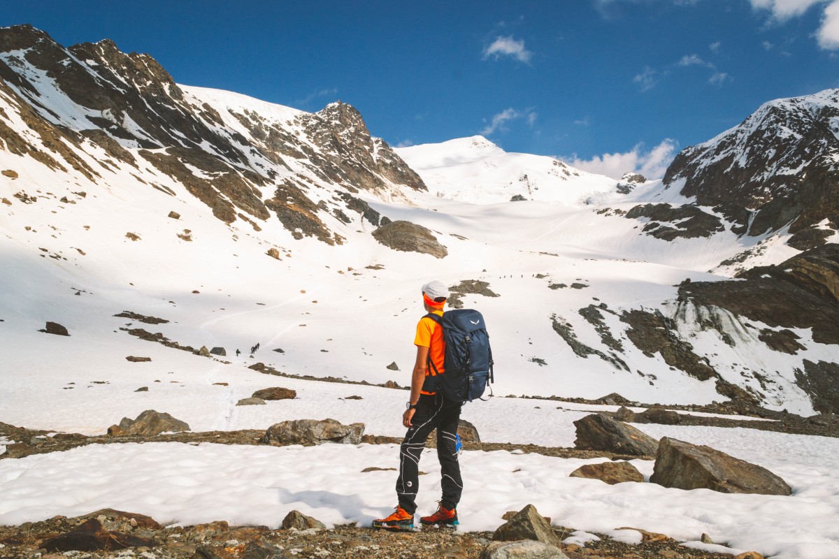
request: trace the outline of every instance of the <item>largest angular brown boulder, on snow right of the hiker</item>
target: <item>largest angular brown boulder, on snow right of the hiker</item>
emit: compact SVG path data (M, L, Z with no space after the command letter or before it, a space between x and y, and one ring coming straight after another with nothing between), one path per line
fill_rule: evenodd
M714 448L663 437L655 457L654 484L721 493L789 495L792 489L768 469Z

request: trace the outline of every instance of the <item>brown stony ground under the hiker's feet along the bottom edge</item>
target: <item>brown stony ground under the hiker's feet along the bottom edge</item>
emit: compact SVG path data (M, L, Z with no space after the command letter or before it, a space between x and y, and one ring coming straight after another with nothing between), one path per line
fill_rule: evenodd
M373 531L355 525L331 529L308 527L317 520L293 511L284 520L287 527L230 526L218 520L195 526L159 525L148 516L117 510L97 510L89 515L55 516L42 522L0 526L0 556L8 559L303 559L352 557L412 557L416 559L467 559L482 557L568 557L569 559L721 559L728 554L707 553L680 546L661 534L643 532L637 546L600 536L586 547L561 543L572 528L528 524L535 509L526 507L506 525L519 532L499 536L492 532L458 532L438 528L417 532ZM530 519L528 518L530 516ZM514 522L518 518L518 524ZM499 519L499 523L503 520ZM517 535L518 534L518 535ZM528 537L529 536L529 537ZM499 541L499 538L514 541ZM527 539L524 539L527 538ZM556 546L540 540L551 540ZM506 550L506 551L505 551ZM561 550L561 551L560 551ZM506 553L506 554L505 554ZM757 553L740 559L757 559Z

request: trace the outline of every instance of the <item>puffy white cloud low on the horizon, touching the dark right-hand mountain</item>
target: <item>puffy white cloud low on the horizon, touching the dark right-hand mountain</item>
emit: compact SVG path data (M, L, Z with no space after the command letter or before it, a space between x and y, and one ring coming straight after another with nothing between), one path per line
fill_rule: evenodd
M644 150L644 144L639 143L626 153L604 153L591 159L580 159L576 156L563 159L573 167L589 173L605 174L615 180L627 172L641 173L647 179L661 179L673 161L677 148L675 140L666 138L649 151Z

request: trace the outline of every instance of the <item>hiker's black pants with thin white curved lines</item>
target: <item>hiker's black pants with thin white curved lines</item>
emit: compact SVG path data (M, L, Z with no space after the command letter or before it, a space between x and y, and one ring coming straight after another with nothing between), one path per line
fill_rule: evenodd
M417 402L412 427L405 433L399 448L399 479L396 480L396 494L399 506L412 515L417 509L416 496L420 489L418 475L420 456L425 449L425 441L434 429L437 429L437 458L440 460L443 486L442 505L454 509L461 500L463 480L461 465L457 462L456 433L457 422L461 418L459 401L448 401L440 394L423 394Z

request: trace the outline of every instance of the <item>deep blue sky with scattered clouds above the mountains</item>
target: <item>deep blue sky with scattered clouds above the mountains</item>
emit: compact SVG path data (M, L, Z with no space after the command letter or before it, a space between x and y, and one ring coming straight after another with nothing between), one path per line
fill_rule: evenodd
M113 39L182 84L340 99L393 146L483 134L618 176L839 87L839 0L5 3L16 23Z

